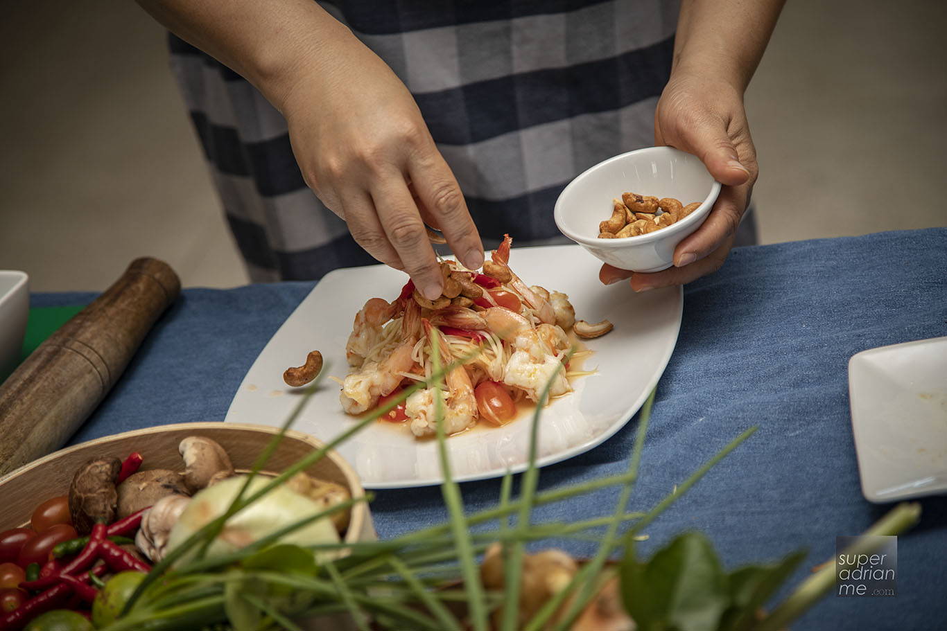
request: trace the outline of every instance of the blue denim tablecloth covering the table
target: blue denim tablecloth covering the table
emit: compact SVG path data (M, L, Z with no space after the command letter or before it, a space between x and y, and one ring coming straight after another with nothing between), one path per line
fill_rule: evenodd
M73 442L223 420L254 359L312 288L185 289ZM94 297L34 294L32 306ZM630 509L651 507L743 429L759 431L647 529L640 552L700 529L730 568L808 549L793 583L808 576L831 557L836 535L858 534L887 510L860 490L849 358L945 335L947 228L734 250L720 272L685 288L680 338L658 384ZM546 467L541 485L624 471L636 425ZM462 490L470 508L483 507L496 500L499 483L467 482ZM445 518L437 487L376 493L371 511L383 537ZM616 493L547 506L536 518L608 514ZM830 595L793 628L947 629L947 499L921 503L920 525L898 541L897 597Z

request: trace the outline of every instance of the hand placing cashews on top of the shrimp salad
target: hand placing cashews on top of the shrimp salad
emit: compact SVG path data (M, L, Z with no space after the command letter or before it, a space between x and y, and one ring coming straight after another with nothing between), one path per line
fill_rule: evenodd
M316 52L299 64L280 107L306 184L368 254L437 298L443 277L425 223L466 267L484 260L454 174L384 61L346 35Z

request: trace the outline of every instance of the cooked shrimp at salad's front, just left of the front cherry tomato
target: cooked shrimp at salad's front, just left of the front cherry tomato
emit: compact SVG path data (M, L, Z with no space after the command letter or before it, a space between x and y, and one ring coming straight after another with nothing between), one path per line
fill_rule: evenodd
M431 342L432 352L435 347L438 348L441 365L451 363L454 357L443 335L427 320L422 320L422 323ZM451 435L474 427L479 412L474 397L474 384L467 370L462 365L457 365L447 373L444 380L447 394L444 395L443 405L439 406L444 433ZM411 420L411 431L415 436L431 436L437 433L438 405L434 388L425 388L408 396L404 402L404 413Z

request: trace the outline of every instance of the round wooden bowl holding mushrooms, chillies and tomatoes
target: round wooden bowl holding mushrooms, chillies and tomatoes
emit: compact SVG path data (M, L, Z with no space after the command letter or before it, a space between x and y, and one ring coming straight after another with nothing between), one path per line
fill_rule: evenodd
M181 423L148 429L135 429L67 447L21 466L0 478L0 531L29 525L29 517L41 502L65 495L80 464L90 458L115 456L124 460L134 451L144 458L142 469L184 470L178 443L187 436L206 436L226 450L234 468L249 469L270 442L277 428L240 423ZM304 456L323 447L312 436L288 430L265 465L269 471L281 471ZM353 499L365 497L365 490L354 469L334 451L326 454L306 472L314 478L338 482L348 487ZM351 509L345 540L376 539L368 504L355 503Z

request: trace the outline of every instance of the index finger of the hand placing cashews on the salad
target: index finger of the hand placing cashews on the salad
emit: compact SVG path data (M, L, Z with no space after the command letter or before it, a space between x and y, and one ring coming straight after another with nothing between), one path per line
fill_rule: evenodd
M428 222L438 228L465 267L483 265L483 242L471 219L460 185L444 159L437 154L411 167L411 183Z

